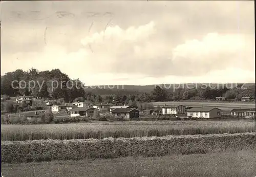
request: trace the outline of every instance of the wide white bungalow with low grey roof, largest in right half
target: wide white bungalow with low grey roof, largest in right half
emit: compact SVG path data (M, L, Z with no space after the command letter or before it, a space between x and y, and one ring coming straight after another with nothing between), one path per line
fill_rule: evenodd
M192 107L187 110L188 117L195 118L219 118L221 117L221 109L216 107Z

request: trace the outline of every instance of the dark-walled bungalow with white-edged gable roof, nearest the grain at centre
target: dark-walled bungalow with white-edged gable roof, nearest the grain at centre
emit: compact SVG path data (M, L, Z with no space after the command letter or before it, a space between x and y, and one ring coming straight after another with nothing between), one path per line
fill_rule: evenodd
M124 117L124 119L133 119L133 118L139 118L139 110L135 108L115 108L111 110L111 114L114 115L114 117Z

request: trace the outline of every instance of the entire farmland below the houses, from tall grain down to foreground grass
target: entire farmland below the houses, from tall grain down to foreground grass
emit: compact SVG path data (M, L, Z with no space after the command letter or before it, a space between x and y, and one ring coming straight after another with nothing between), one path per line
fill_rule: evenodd
M252 120L4 124L1 138L6 176L256 175L256 166L251 166L256 161L251 155L256 152ZM238 158L242 152L250 155ZM116 168L115 162L120 162ZM171 168L167 165L174 162ZM189 166L181 170L184 164ZM72 167L65 173L55 170L63 165Z

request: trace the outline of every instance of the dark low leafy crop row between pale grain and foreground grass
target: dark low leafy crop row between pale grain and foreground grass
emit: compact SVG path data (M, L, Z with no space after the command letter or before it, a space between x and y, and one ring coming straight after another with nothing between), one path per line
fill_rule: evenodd
M2 144L2 162L22 163L54 160L112 159L127 156L208 153L255 148L255 135L156 140L99 140L95 142L16 142Z

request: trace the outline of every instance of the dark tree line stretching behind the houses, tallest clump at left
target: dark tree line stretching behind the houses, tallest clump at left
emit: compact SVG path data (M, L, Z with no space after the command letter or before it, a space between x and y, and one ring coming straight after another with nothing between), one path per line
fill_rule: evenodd
M17 82L13 83L12 81ZM18 82L24 80L26 87L14 87L18 86ZM39 91L39 85L30 85L29 81L34 80L41 85ZM44 82L43 82L44 81ZM59 86L56 89L52 89L54 85L51 83L57 83ZM69 87L69 84L77 85ZM25 84L25 83L24 83ZM60 86L61 85L61 86ZM93 102L112 102L113 100L119 101L122 104L136 105L144 102L156 102L156 101L179 101L179 100L215 100L218 96L225 96L227 100L239 101L242 97L249 96L255 98L255 84L247 86L247 89L242 89L242 84L237 85L232 89L225 86L217 89L211 87L193 87L193 88L179 88L179 89L165 89L161 85L156 86L152 91L141 90L125 90L125 89L82 89L86 85L77 79L70 79L70 77L62 73L59 69L51 71L41 71L36 69L30 69L29 71L16 70L14 72L6 73L1 76L1 95L8 95L10 97L16 97L18 95L32 95L39 99L51 99L59 100L63 102L75 102L90 100ZM55 88L55 87L54 87ZM80 89L79 89L80 88Z

